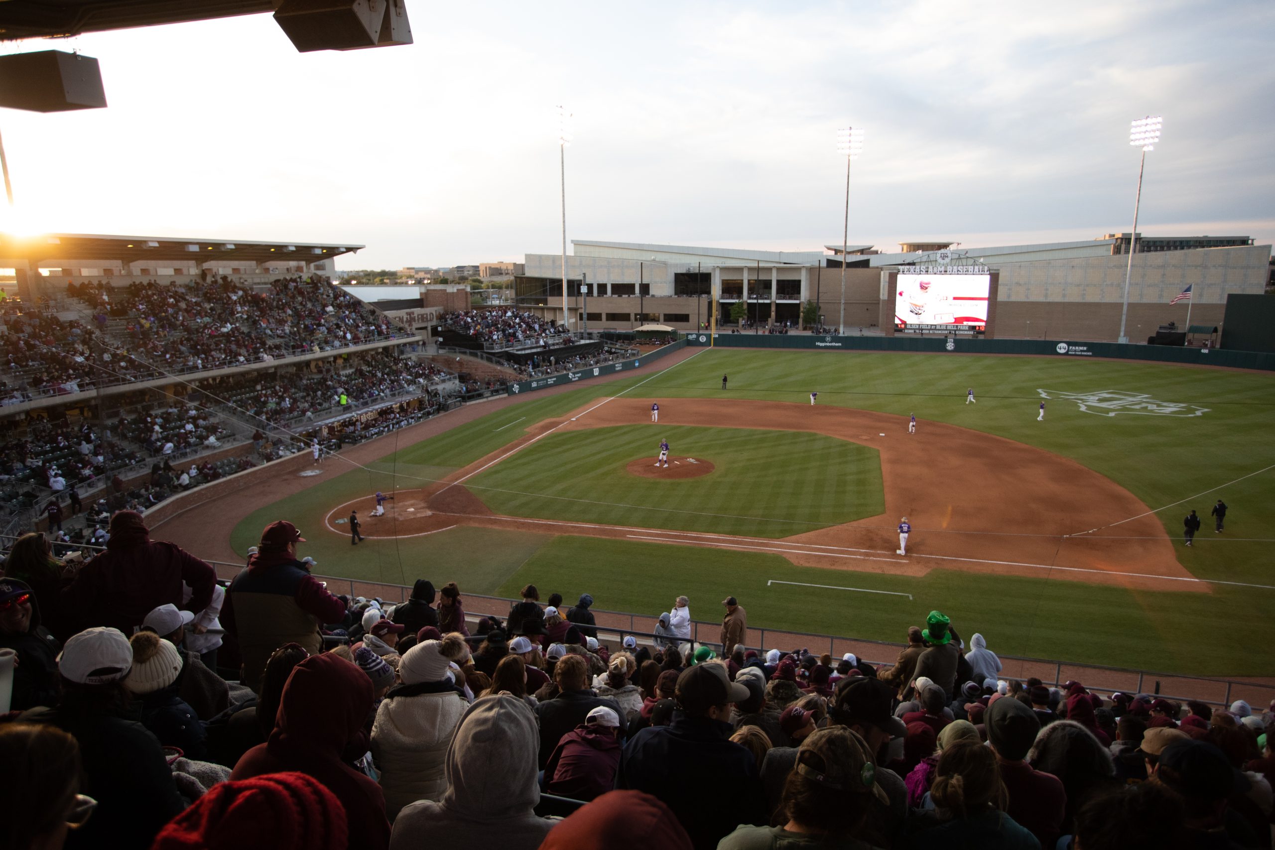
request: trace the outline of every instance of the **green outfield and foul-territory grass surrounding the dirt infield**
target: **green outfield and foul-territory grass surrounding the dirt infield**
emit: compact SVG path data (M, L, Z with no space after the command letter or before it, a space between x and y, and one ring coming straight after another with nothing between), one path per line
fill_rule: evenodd
M578 409L590 399L625 390L631 390L627 395L632 398L718 396L723 372L731 376L728 394L733 398L807 405L807 394L817 390L820 404L899 415L914 412L921 428L927 421L942 421L1071 457L1122 484L1151 507L1188 500L1160 514L1174 539L1188 507L1205 516L1197 544L1191 549L1177 547L1187 570L1202 579L1275 585L1275 549L1270 543L1275 539L1275 470L1258 473L1275 464L1275 445L1269 438L1275 377L1066 357L704 350L654 377L631 376L560 395L530 396L404 446L372 464L375 473L347 473L258 511L236 529L235 545L245 551L265 521L280 516L301 520L306 530L330 507L385 489L384 482L394 473L399 488L417 487L421 479L469 464L509 443L523 428ZM965 404L969 386L978 404ZM1100 417L1081 412L1074 401L1051 400L1046 422L1035 422L1040 389L1145 393L1159 401L1198 405L1207 412L1187 418L1128 413ZM676 400L662 407L672 413ZM566 436L579 438L576 433L586 432ZM501 466L518 457L514 455ZM537 473L528 469L525 474L534 478ZM1235 480L1244 475L1251 477ZM760 482L757 489L770 486L768 480ZM1214 492L1219 486L1224 487ZM1223 535L1215 535L1207 522L1209 507L1219 496L1230 506ZM977 498L977 489L961 497ZM528 510L538 510L530 501ZM546 515L578 515L575 506L556 510ZM1060 505L1058 510L1066 511L1067 506ZM626 521L634 524L634 519ZM1121 519L1111 517L1113 522ZM1235 628L1238 623L1252 628L1267 622L1275 614L1275 590L1214 585L1213 594L1151 593L954 571L908 579L796 567L779 556L761 553L541 535L502 538L487 530L376 542L375 548L358 547L353 552L348 543L332 537L321 544L323 557L311 552L320 561L320 572L330 575L402 579L405 584L414 577L431 577L437 584L439 579L459 581L470 575L470 591L483 593L491 586L505 595L514 595L521 584L533 580L569 598L589 591L599 608L652 614L667 610L671 593L686 593L692 600L704 600L694 603L694 609L705 619L718 613L713 600L734 593L748 608L752 624L876 640L900 640L903 627L918 622L931 608L940 608L968 623L970 632L987 635L992 649L1011 655L1209 675L1275 674L1275 661L1261 649L1262 641L1244 638ZM768 579L899 590L915 599L900 603L890 596L766 587ZM469 580L464 581L463 586L468 586Z

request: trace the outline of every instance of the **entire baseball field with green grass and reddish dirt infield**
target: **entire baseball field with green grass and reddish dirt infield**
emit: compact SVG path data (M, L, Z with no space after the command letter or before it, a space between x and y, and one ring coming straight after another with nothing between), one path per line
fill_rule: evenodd
M385 437L357 465L333 457L222 500L222 551L241 557L288 519L325 575L506 596L534 582L652 616L686 594L697 619L733 594L750 626L892 641L938 608L1005 655L1275 673L1261 649L1275 616L1269 373L740 349L658 367L472 405L477 418L441 417L428 438ZM376 491L393 500L370 517Z

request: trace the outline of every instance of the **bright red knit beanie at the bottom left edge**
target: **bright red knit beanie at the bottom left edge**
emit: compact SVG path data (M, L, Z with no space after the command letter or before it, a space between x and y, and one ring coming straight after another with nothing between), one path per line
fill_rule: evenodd
M344 850L346 808L305 774L218 782L156 836L150 850Z

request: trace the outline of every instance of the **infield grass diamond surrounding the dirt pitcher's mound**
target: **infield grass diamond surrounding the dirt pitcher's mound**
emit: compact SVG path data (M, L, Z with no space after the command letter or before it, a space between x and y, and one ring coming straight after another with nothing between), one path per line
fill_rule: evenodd
M625 472L654 457L660 438L715 469L676 480ZM465 486L497 514L770 538L885 510L876 449L793 431L631 424L556 433Z

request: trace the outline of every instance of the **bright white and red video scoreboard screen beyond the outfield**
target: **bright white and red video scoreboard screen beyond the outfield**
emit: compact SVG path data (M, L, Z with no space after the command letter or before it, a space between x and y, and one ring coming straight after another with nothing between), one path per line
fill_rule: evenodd
M970 333L987 329L989 274L905 274L895 280L899 333Z

